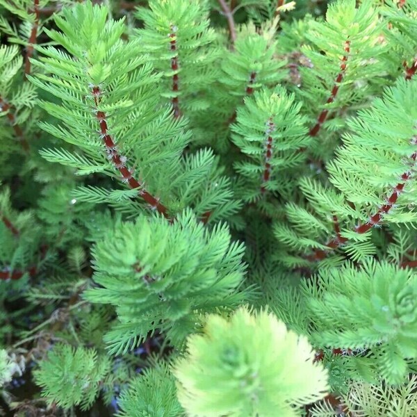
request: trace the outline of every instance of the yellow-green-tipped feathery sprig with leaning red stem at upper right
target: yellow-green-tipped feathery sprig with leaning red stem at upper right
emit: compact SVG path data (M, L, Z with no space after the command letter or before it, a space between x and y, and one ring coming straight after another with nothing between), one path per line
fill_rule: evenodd
M386 71L386 46L379 38L381 32L382 22L371 1L362 2L359 8L354 0L333 2L327 9L325 24L309 22L305 35L308 44L301 47L308 64L300 67L302 88L295 92L306 106L313 136L319 129L341 129L343 108L363 106L379 90L380 77ZM324 123L327 117L331 120ZM316 142L312 151L327 161L335 138L327 133L323 140L325 149Z

